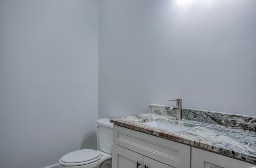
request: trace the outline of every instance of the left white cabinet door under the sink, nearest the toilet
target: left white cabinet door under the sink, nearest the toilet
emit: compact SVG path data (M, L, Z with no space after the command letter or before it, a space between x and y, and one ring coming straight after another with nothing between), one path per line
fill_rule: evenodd
M144 168L144 156L113 144L112 168Z

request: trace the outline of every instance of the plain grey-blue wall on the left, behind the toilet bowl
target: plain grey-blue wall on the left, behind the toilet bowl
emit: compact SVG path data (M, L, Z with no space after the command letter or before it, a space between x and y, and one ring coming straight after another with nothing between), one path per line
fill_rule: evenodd
M98 1L0 0L0 167L96 148L97 119Z

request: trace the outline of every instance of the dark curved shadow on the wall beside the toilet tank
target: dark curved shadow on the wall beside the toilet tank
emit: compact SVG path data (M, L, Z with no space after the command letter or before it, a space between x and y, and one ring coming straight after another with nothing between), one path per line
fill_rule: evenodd
M83 140L81 142L81 149L94 149L97 150L97 132L91 131L84 135Z

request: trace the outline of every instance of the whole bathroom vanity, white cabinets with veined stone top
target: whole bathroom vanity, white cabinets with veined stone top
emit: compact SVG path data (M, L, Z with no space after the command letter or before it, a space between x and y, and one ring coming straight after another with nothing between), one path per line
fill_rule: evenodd
M244 130L185 119L176 121L164 111L155 111L156 114L151 109L150 112L111 119L115 124L112 168L256 167L254 128ZM249 120L254 127L255 118ZM155 121L170 125L157 125ZM172 130L173 125L178 128Z

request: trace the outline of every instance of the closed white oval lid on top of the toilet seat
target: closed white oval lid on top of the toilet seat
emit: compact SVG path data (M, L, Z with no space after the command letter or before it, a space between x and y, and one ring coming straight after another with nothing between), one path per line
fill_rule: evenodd
M60 160L65 163L79 163L79 162L87 162L89 160L99 160L100 154L92 149L82 149L76 150L74 152L70 152L64 155Z

